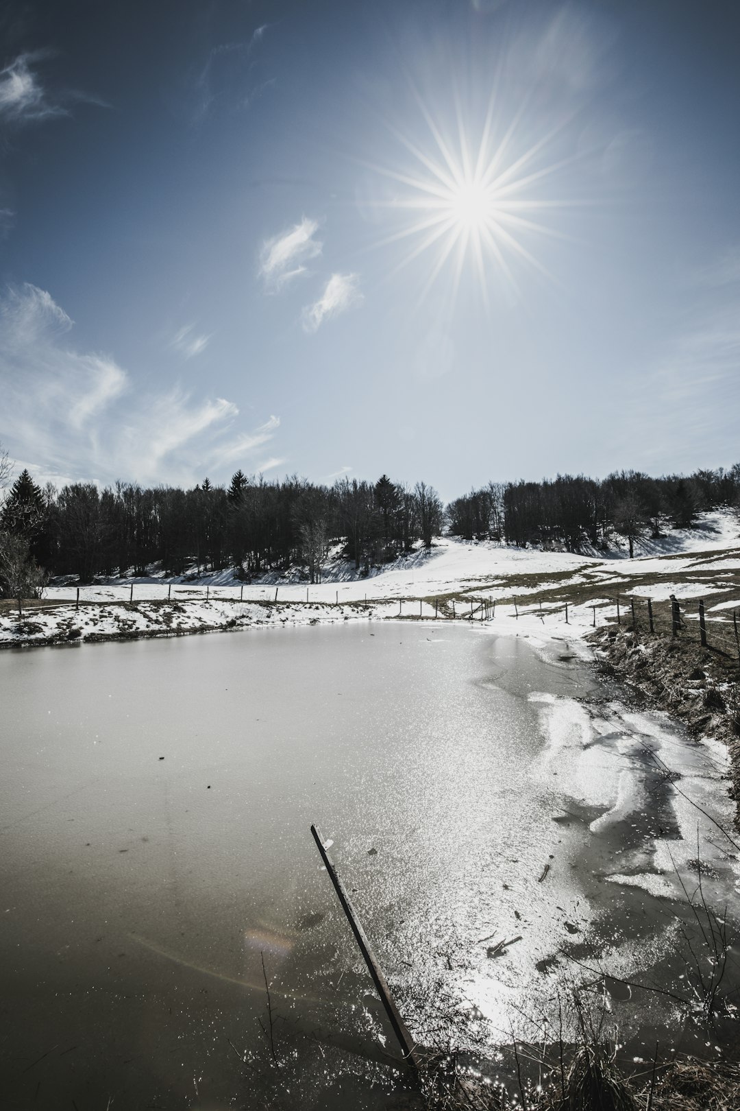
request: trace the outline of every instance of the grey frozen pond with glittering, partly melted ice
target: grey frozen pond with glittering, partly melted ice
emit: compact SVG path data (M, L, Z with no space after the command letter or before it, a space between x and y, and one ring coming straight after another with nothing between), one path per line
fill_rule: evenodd
M0 684L17 1109L256 1107L276 1085L382 1107L387 1035L312 822L425 1044L455 1013L526 1034L561 971L599 962L683 990L671 855L693 889L699 854L736 914L722 754L615 702L565 642L255 630L4 652ZM614 994L622 1027L672 1019Z

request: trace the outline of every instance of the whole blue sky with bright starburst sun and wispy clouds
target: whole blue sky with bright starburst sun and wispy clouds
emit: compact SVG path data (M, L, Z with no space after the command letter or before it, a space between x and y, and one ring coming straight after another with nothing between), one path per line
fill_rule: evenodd
M731 3L4 7L0 442L45 481L737 461Z

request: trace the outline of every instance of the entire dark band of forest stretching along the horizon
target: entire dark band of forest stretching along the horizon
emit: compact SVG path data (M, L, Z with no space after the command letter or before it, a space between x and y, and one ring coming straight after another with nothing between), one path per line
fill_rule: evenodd
M6 457L0 509L0 590L32 594L50 578L169 575L233 568L251 581L298 568L321 579L330 550L359 574L430 548L444 532L464 540L571 552L622 547L690 527L698 512L740 507L740 463L729 470L650 478L621 471L605 479L558 474L540 482L489 482L443 506L436 490L382 474L333 486L296 476L267 481L241 470L229 487L207 478L192 489L78 482L41 488L23 470L11 484ZM0 478L2 471L0 470Z

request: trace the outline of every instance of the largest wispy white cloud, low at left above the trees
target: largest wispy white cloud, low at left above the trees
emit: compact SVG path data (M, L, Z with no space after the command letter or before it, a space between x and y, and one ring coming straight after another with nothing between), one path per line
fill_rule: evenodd
M232 461L253 469L280 426L245 432L232 401L176 386L141 392L112 357L75 350L72 328L45 290L0 296L0 396L13 414L3 441L40 474L189 484Z

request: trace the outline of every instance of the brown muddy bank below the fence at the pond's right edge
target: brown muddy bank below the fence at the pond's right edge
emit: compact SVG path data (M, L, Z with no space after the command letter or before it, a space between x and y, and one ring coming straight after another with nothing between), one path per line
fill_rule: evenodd
M730 754L728 793L740 829L740 670L724 653L668 635L609 625L588 640L607 674L647 707L686 723L690 735L722 741Z

